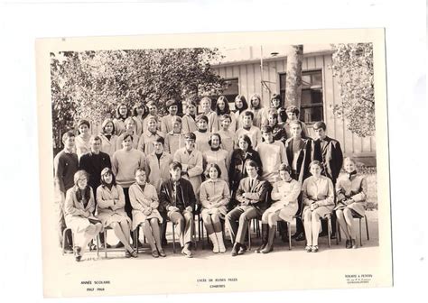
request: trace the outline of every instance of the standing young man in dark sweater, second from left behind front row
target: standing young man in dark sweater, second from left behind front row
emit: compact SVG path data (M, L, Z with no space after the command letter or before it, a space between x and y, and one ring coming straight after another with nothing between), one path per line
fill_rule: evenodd
M88 185L92 188L95 199L95 215L95 210L97 209L97 188L101 185L101 171L105 168L111 169L111 161L110 156L106 152L101 152L101 138L98 136L91 137L89 145L90 152L80 157L79 170L88 172ZM99 240L101 241L101 245L104 246L103 233L99 234Z

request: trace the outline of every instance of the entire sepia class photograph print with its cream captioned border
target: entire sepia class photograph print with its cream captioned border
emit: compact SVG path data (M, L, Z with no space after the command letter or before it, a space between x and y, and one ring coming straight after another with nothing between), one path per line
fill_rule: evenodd
M381 29L36 41L43 293L392 286Z

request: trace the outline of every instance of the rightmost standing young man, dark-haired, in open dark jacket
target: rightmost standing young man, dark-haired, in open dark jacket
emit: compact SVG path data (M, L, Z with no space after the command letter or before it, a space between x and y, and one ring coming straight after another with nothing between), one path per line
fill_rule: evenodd
M343 164L343 153L340 148L340 142L327 136L327 125L322 121L313 124L316 140L312 142L312 160L318 160L322 163L322 175L329 177L336 186L336 180L339 177L340 169ZM331 225L336 226L336 216L331 217ZM321 236L327 235L327 222L321 221ZM336 229L333 228L331 238L336 238Z

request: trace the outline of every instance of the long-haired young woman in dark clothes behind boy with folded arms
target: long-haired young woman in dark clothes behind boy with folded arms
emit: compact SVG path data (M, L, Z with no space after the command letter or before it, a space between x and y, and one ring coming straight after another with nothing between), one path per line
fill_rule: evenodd
M258 152L253 150L251 139L247 134L243 134L237 138L238 148L232 153L230 160L230 169L228 180L232 197L235 196L239 181L247 177L246 163L247 161L255 161L259 168L259 174L262 173L262 161Z

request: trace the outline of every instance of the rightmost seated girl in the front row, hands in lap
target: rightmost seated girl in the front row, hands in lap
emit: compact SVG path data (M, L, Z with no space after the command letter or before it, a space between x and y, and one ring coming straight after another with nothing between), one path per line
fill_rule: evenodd
M365 215L368 183L364 176L358 174L357 165L352 158L345 158L343 168L346 174L340 176L336 183L336 216L346 237L346 248L357 248L357 226L353 216Z

